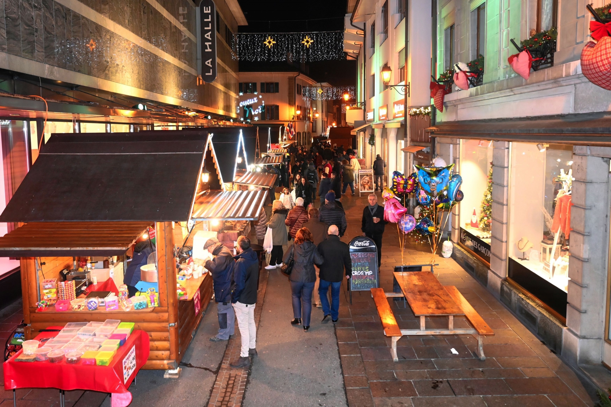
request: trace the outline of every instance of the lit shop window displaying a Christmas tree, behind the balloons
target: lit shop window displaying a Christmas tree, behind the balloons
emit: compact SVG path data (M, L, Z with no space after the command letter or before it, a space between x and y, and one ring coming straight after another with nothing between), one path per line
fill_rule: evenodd
M478 259L490 264L492 226L492 142L461 140L459 242Z

